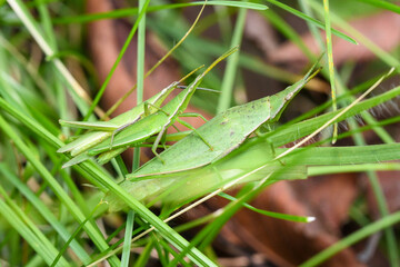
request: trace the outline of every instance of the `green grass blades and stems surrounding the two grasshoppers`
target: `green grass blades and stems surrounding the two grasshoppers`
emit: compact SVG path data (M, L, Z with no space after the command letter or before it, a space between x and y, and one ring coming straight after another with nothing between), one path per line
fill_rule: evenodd
M212 241L241 208L297 224L312 220L312 217L277 214L251 206L251 199L266 187L281 179L312 179L317 175L367 171L378 199L380 219L369 222L366 219L368 215L357 210L362 205L354 205L352 214L354 218L361 218L358 221L362 220L363 225L302 266L322 264L378 231L384 231L379 249L387 255L391 266L399 266L399 240L392 227L400 217L398 212L390 215L376 171L400 169L399 164L387 162L400 159L400 147L384 128L398 123L400 117L393 115L378 120L367 110L393 101L400 95L400 87L394 85L391 90L370 96L341 113L391 67L397 68L398 75L398 51L383 51L363 37L343 19L348 19L349 14L333 1L324 2L329 9L312 0L301 1L300 7L274 0L209 1L208 4L212 4L212 8L208 7L209 12L214 12L213 8L224 9L224 12L208 17L201 14L199 20L190 18L188 22L182 10L190 8L199 12L202 4L201 1L168 4L164 1L140 0L139 7L86 14L81 1L8 0L0 3L0 265L94 266L107 260L111 266L146 266L153 260L151 254L154 251L162 266L177 266L178 263L183 266L216 266L218 255L212 249ZM367 4L366 13L381 9L399 12L396 4L378 0L350 1L348 4L357 8L359 13ZM57 150L64 145L66 136L81 132L61 128L58 120L93 121L108 115L98 103L134 36L138 37L137 52L140 56L134 62L137 85L131 91L137 90L134 93L139 103L144 100L144 79L148 76L151 79L153 70L149 73L144 71L148 31L151 30L170 49L167 56L179 62L181 73L188 73L201 65L208 66L230 47L242 43L249 9L259 12L282 37L296 43L314 61L318 55L308 50L283 16L290 13L307 23L321 50L327 50L329 60L326 62L330 62L330 68L323 69L321 77L337 87L337 99L333 100L338 103L337 110L327 111L332 101L321 103L292 121L247 140L212 164L178 175L116 182L129 174L128 169L139 167L139 148L134 149L134 161L129 165L118 157L107 168L91 160L61 168L69 156ZM156 12L163 16L152 16ZM230 20L232 16L237 18L234 22ZM132 28L107 79L98 85L91 59L87 57L86 23L117 18L131 20ZM219 27L221 37L210 40L199 34L213 23ZM329 26L332 29L321 38L317 29ZM81 32L82 36L72 38L71 32ZM361 43L374 53L373 62L368 62L371 69L374 66L384 67L376 68L363 80L352 79L351 65L348 70L338 70L332 61L334 43L328 42L326 48L323 41L334 36L351 43ZM74 75L83 79L77 80L71 73L68 65L71 61L80 66ZM198 93L192 102L208 112L221 112L241 102L236 92L243 87L244 70L286 85L301 78L301 73L292 73L240 49L228 58L224 71L214 69L202 81L201 87L221 90L222 93ZM356 86L349 86L349 81ZM91 98L81 83L100 89ZM314 86L309 83L307 87ZM360 116L366 125L360 126L354 116ZM282 146L312 135L330 120L332 123L346 120L349 131L339 132L338 140L350 137L356 146L329 147L332 136L320 135L322 138L312 146L293 149L282 157L284 165L276 160L278 155L290 151ZM367 145L362 132L368 130L376 134L381 145ZM231 166L237 168L234 174ZM242 187L236 196L223 192L237 185ZM217 195L229 199L229 204L218 212L180 226L168 224L174 218L171 215L179 216ZM154 212L154 206L159 204L162 205ZM108 214L109 206L121 210ZM183 235L183 231L201 226L192 238ZM131 249L141 253L131 253Z

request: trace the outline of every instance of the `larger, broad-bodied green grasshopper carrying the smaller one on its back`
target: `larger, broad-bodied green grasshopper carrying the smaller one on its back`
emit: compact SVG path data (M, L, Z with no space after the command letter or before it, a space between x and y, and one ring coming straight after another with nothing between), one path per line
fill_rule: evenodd
M127 179L146 179L156 175L183 171L209 165L222 158L242 144L261 125L279 120L291 99L320 69L318 62L298 82L273 96L237 106L217 115L213 119L161 154L162 160L153 158ZM199 136L209 145L200 141ZM210 149L209 147L213 148Z

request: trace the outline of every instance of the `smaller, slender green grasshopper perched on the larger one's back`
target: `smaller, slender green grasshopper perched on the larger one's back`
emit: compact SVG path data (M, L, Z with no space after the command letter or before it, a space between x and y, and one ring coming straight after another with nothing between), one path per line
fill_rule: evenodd
M67 145L66 147L62 147L59 149L59 152L66 152L70 151L71 156L79 156L73 158L71 161L67 162L66 166L70 166L73 164L78 164L82 160L86 160L90 156L99 155L99 161L101 164L108 161L112 157L121 154L123 150L126 150L130 146L140 146L146 139L151 137L152 135L158 134L156 141L152 146L152 151L157 157L159 155L157 154L156 149L158 148L162 136L164 136L166 130L168 127L173 125L174 121L179 121L180 123L187 126L188 128L192 129L196 132L196 129L192 128L190 125L188 125L184 121L181 121L178 117L184 116L182 115L183 110L187 108L191 96L194 93L197 86L201 82L202 78L221 60L237 51L238 48L232 48L229 51L227 51L224 55L219 57L209 68L207 68L200 76L198 76L192 83L190 83L182 92L180 92L176 98L173 98L170 102L164 105L162 108L159 107L159 105L166 99L166 97L172 91L178 83L174 82L168 88L163 89L160 93L152 97L151 101L146 101L140 107L138 106L133 110L129 111L130 115L133 116L130 118L130 123L116 123L116 119L120 118L121 116L114 118L110 122L100 122L94 123L96 127L101 128L104 131L100 132L89 132L86 136L79 138L77 141L72 141L71 144ZM156 105L154 105L156 103ZM146 113L147 106L149 106L148 109L152 108L154 112L148 112L146 117L142 117L143 113ZM189 115L193 116L193 115ZM199 116L199 115L196 115ZM123 115L123 118L118 120L119 122L127 121L127 118L129 115ZM68 121L61 121L66 126L73 126L73 127L88 127L91 128L93 123L88 122L68 122ZM119 132L114 137L114 131L120 131L123 129L123 131ZM97 138L96 141L93 141L93 138ZM201 138L201 137L200 137ZM89 145L84 144L84 141L90 141ZM203 139L203 141L207 144L207 140ZM99 144L100 142L100 144ZM210 147L211 148L211 147ZM82 152L86 154L82 154ZM82 155L80 155L82 154Z

